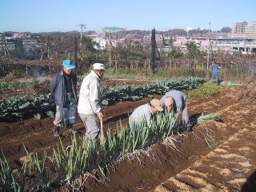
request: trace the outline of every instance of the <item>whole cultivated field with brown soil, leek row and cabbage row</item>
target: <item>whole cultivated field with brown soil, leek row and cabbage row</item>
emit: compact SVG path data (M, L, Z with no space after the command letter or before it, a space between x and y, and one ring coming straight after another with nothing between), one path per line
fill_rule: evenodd
M28 113L27 116L16 122L6 122L4 118L0 122L0 146L6 157L1 166L10 176L6 179L12 181L11 176L18 178L20 170L26 170L23 180L9 183L10 191L15 191L14 186L18 189L18 183L25 180L23 190L30 185L30 190L34 191L255 191L256 103L238 102L235 95L240 91L239 86L231 86L210 97L188 99L190 120L194 122L192 133L179 130L177 134L177 126L159 116L161 123L155 122L156 130L131 132L134 137L126 134L128 114L152 97L161 98L170 85L174 89L190 90L198 84L182 80L177 84L159 82L158 86L155 83L122 84L115 89L106 86L103 114L108 144L102 147L98 143L90 150L84 150L89 146L83 139L85 130L79 118L74 126L78 130L77 137L73 138L62 128L60 142L53 135L53 118L47 117L52 115L48 111L54 113L54 110L44 108L48 107L46 101L50 103L50 98L43 98L40 103L37 98L34 106L28 106L30 110L26 109L26 99L30 98L24 98L20 108L26 110L17 112L15 117L18 119L18 115ZM128 93L134 98L127 97ZM14 99L8 101L15 103ZM2 109L18 106L2 106ZM9 114L7 111L6 115ZM204 121L198 118L202 114L221 115ZM174 132L176 134L170 136ZM55 164L54 171L50 171L51 163ZM3 180L0 183L0 189L6 189Z

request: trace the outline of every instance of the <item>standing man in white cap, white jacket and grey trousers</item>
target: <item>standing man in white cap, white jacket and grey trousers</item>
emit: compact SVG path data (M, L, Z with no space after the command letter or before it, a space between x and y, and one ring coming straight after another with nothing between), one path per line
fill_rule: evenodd
M93 140L98 137L98 119L103 119L102 94L99 82L106 68L102 63L94 63L93 70L83 80L78 101L78 114L86 128L86 136Z

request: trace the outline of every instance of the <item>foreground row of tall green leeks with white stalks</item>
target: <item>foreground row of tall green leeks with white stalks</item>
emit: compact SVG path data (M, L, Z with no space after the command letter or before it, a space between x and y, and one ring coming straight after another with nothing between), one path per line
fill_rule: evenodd
M176 122L174 115L165 111L157 114L150 125L143 121L141 125L134 125L128 129L127 126L123 126L120 122L116 134L111 135L110 131L108 131L106 136L103 136L102 142L96 139L89 141L86 137L76 138L74 135L71 146L65 148L60 139L60 146L57 149L53 149L52 157L48 158L46 152L44 152L42 160L39 160L38 154L29 154L25 147L30 160L29 174L31 170L34 171L37 175L37 183L41 184L41 190L49 188L53 174L61 175L61 182L67 182L68 184L71 184L75 178L96 168L104 177L103 167L106 164L136 150L145 150L154 142L162 141L163 138L174 133L177 127ZM2 189L7 189L16 186L22 189L24 181L20 178L18 178L18 182L14 180L9 162L6 159L0 159L0 165L2 181L0 189L1 187ZM46 165L50 165L50 167ZM26 178L26 164L24 167L22 168L22 174L18 174L21 178Z

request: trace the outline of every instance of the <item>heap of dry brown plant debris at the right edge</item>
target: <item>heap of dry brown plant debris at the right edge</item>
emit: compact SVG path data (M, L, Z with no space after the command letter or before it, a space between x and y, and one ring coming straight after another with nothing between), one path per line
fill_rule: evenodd
M246 79L238 91L238 101L254 102L256 101L256 76Z

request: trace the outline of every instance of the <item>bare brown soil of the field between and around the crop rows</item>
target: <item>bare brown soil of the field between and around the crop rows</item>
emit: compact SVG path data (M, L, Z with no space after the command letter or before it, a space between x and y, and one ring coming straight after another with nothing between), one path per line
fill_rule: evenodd
M150 146L149 153L138 150L139 158L133 154L120 158L107 166L105 184L91 177L85 181L78 178L76 183L83 183L78 191L255 191L256 103L237 102L238 90L238 86L231 86L209 98L188 99L191 119L202 113L220 112L221 117L198 123L191 133L174 135ZM120 119L127 122L128 112L149 101L143 98L104 107L104 131L114 133ZM20 167L26 155L23 144L32 153L50 153L58 145L52 122L53 118L1 122L0 146L6 158ZM78 135L85 133L79 118L74 129L79 130ZM61 132L64 144L69 145L70 134L64 128Z

